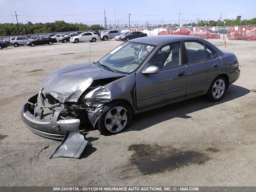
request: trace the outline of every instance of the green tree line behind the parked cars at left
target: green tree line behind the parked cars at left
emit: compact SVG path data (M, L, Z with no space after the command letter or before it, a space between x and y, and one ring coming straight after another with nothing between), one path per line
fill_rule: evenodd
M51 23L35 23L28 22L27 24L19 23L20 35L29 34L44 34L55 32L68 32L68 31L85 31L85 30L103 30L104 27L99 24L87 25L87 24L74 24L66 23L65 21L55 21ZM18 35L17 24L4 23L0 24L0 36L12 36Z

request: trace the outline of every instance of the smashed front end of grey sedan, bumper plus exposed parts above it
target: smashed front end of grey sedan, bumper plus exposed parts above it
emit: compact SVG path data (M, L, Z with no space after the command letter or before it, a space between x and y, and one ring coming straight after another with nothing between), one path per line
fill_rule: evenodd
M32 132L53 140L63 140L66 131L77 131L80 125L74 112L43 89L22 104L20 113Z

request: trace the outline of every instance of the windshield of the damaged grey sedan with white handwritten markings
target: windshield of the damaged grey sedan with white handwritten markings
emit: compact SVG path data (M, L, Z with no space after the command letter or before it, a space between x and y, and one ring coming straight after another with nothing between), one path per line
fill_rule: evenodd
M100 65L107 66L116 72L129 74L134 72L150 55L154 46L137 42L126 42L100 60Z

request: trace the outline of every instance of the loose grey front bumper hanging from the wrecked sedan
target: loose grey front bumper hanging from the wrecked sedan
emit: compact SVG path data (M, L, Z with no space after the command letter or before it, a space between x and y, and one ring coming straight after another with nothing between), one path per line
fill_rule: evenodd
M58 106L54 108L51 118L44 118L44 108L37 103L38 94L31 97L27 102L24 102L20 108L22 121L26 127L35 134L44 138L62 141L66 131L78 131L79 119L65 119L61 116L66 112L66 108Z

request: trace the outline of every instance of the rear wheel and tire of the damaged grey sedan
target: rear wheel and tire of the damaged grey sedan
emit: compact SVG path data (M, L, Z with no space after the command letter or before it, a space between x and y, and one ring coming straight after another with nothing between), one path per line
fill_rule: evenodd
M224 94L226 93L227 82L224 76L218 76L215 78L208 89L207 97L210 101L217 102L220 101Z

